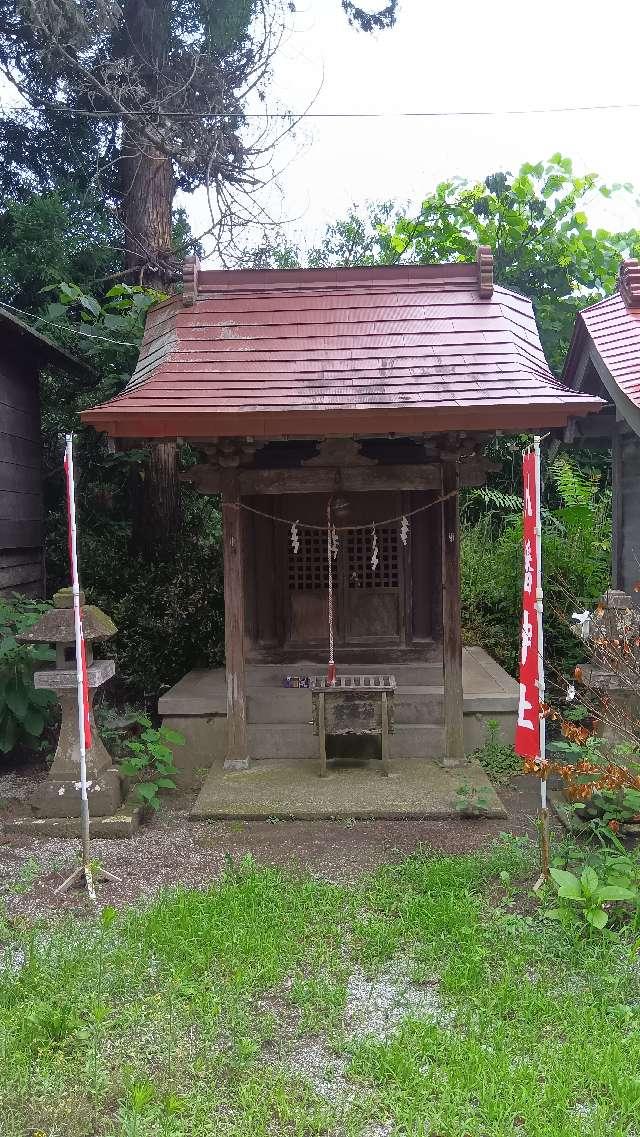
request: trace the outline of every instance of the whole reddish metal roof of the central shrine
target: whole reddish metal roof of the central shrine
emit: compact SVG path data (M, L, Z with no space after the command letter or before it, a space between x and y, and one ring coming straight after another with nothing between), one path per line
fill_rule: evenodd
M126 390L83 420L118 438L305 437L564 425L601 400L551 375L531 301L475 264L202 271L149 312Z

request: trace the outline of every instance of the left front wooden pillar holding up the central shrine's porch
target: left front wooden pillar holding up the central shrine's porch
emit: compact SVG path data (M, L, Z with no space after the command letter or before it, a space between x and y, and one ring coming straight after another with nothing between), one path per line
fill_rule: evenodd
M242 516L238 468L222 471L224 548L224 654L226 667L225 770L247 770L247 686L244 679L244 589Z

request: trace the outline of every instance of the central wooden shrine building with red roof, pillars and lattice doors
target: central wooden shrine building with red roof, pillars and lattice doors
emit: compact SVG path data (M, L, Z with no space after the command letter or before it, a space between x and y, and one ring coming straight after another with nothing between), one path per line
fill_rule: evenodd
M429 266L188 263L183 293L149 313L125 392L83 418L123 445L188 440L202 455L189 478L222 496L227 767L264 756L248 741L248 665L271 664L280 686L301 661L326 665L330 500L339 673L443 669L439 708L429 681L407 672L407 690L423 692L422 722L443 707L440 753L424 756L462 763L458 490L485 480L496 431L600 406L550 374L531 302L493 284L487 248Z

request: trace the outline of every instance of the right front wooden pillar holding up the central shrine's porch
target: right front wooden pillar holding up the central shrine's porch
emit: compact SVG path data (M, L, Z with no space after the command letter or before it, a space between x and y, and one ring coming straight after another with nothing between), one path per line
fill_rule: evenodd
M442 454L442 667L444 675L444 765L465 761L463 631L460 621L460 522L458 454Z

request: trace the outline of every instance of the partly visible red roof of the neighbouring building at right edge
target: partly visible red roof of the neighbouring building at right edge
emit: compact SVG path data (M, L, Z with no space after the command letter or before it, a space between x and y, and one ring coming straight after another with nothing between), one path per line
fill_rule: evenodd
M618 410L638 429L640 409L640 262L624 260L618 291L576 316L564 380L580 390L588 359Z

